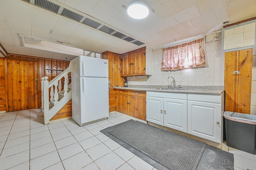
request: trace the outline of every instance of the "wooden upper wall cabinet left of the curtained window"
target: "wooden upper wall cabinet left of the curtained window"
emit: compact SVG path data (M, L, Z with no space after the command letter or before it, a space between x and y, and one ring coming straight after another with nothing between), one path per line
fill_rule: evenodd
M121 54L121 76L146 75L146 47Z

